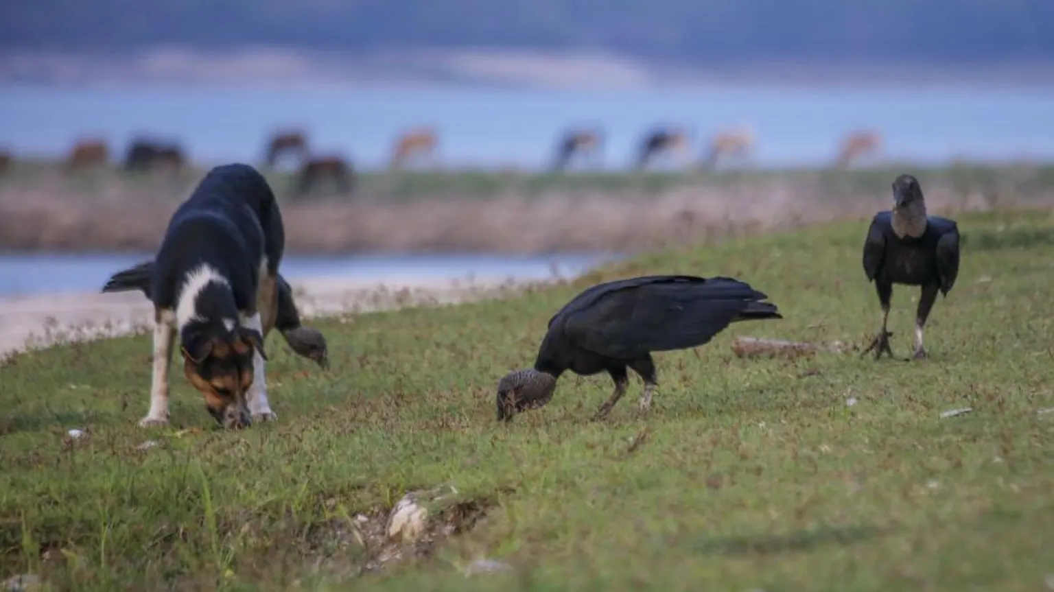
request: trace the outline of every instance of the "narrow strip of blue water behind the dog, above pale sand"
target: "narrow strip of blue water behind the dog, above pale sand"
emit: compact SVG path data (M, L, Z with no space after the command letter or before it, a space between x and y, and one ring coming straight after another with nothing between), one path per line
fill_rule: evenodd
M55 292L97 292L114 272L150 259L143 255L0 255L0 297ZM355 255L282 258L281 273L291 280L335 276L546 279L581 274L616 258L604 254L506 255Z

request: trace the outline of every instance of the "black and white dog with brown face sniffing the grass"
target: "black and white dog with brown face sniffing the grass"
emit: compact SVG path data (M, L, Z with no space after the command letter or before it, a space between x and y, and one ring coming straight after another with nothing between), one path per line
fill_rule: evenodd
M169 369L183 372L226 428L277 416L268 402L264 337L275 324L286 236L267 180L248 164L210 171L172 215L154 258L154 370L140 426L169 420Z

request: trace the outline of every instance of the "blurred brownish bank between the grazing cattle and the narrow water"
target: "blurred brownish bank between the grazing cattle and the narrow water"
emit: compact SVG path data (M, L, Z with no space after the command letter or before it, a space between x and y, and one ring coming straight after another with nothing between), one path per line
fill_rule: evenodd
M474 195L469 192L479 190L477 177L422 174L427 182L415 186L426 189L397 198L385 193L379 176L352 196L279 199L290 254L631 253L863 219L887 208L889 179L897 171L499 175L488 179L503 186L487 185ZM1027 162L933 169L925 173L926 201L934 213L1049 205L1052 173L1051 165ZM0 250L153 252L172 211L197 179L188 172L176 184L124 182L118 176L70 183L38 175L0 184ZM443 183L449 184L440 193Z

